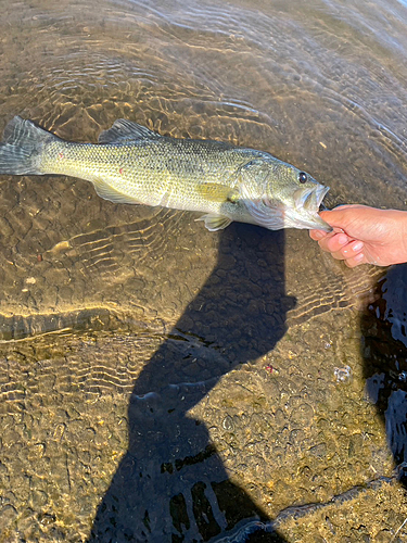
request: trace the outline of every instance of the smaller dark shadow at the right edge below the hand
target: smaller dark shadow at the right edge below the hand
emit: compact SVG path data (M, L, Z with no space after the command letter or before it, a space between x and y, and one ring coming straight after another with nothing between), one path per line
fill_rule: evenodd
M407 265L391 267L361 318L368 399L386 430L396 473L407 488Z

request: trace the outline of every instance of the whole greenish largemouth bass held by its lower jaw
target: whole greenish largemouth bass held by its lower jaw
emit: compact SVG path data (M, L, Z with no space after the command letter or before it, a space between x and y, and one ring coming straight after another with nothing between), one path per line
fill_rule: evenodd
M270 230L332 228L318 215L329 190L265 151L162 136L117 119L98 143L63 140L15 116L0 142L1 175L86 179L111 202L204 213L209 231L233 220Z

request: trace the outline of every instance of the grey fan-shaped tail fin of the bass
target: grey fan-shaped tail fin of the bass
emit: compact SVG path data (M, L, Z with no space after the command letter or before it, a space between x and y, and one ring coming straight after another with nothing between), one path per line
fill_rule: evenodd
M40 156L47 142L59 139L31 121L15 116L0 142L0 174L41 175Z

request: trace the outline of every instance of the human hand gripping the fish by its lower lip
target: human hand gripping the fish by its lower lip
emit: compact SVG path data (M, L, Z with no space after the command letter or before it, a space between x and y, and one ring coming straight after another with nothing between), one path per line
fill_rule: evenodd
M407 212L366 205L341 205L320 216L332 232L310 230L311 239L348 267L359 264L390 266L407 262Z

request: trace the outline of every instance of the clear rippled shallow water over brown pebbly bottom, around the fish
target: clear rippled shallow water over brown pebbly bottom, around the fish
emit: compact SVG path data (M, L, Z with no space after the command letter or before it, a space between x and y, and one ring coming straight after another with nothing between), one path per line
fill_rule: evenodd
M1 127L97 141L126 117L268 151L329 205L407 209L402 2L1 13ZM0 186L1 541L407 536L404 266L77 179Z

